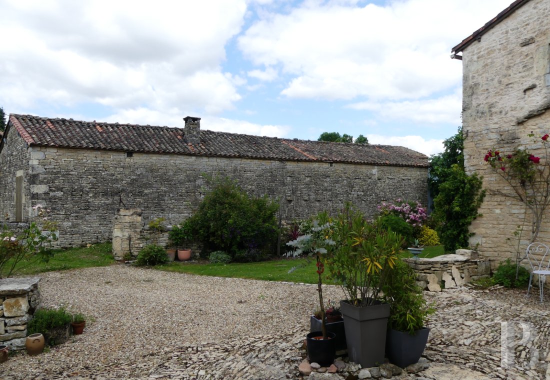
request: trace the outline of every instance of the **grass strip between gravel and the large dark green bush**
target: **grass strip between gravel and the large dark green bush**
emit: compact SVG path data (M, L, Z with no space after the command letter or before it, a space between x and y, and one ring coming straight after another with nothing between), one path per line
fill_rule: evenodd
M421 257L435 257L443 255L443 246L425 247ZM412 257L404 252L403 257ZM296 267L292 273L291 268ZM287 281L294 283L316 284L317 273L315 261L307 262L304 258L281 259L262 261L255 263L231 263L231 264L210 264L210 263L180 263L171 262L158 265L156 269L169 272L199 274L200 276L250 278L267 281ZM323 284L333 284L323 278Z

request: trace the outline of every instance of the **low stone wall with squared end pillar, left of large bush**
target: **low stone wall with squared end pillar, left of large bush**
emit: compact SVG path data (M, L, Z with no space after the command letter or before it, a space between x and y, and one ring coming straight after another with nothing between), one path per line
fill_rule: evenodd
M122 260L129 253L135 258L147 244L167 247L171 230L171 225L163 226L162 231L149 228L139 208L119 208L113 221L113 256L115 260ZM202 252L200 243L190 243L185 248L191 249L194 257L199 257Z

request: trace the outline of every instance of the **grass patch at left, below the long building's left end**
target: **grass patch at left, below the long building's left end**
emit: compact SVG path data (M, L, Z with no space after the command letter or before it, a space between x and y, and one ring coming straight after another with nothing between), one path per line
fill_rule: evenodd
M15 276L41 272L62 271L64 269L103 267L114 263L111 243L94 244L89 247L78 247L66 250L54 250L48 261L19 262L16 268L23 267ZM9 265L7 265L9 267ZM2 275L5 275L5 270Z

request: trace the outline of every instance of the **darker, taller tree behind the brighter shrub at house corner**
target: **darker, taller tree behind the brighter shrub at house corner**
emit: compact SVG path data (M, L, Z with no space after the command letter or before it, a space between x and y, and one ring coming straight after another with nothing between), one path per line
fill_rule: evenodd
M439 186L449 179L452 175L451 167L458 165L464 170L464 137L462 127L459 126L456 135L449 137L443 142L445 151L438 155L430 157L430 175L428 177L428 186L432 198L439 194Z

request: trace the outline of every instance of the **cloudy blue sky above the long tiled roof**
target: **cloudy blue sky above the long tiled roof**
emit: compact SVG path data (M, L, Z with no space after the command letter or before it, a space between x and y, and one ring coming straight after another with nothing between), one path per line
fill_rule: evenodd
M432 155L461 125L451 48L512 0L0 0L0 107Z

